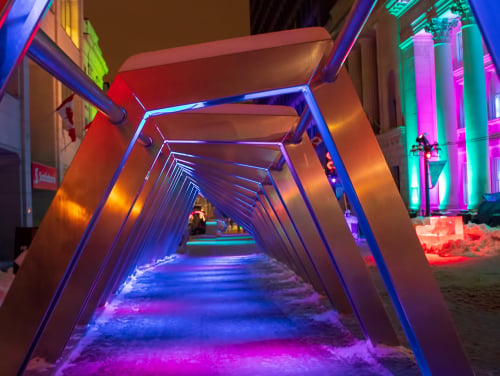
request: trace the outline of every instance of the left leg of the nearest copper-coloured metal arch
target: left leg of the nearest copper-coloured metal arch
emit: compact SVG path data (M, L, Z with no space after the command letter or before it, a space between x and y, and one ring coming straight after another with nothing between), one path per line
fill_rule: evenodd
M99 114L94 120L98 126L90 128L73 159L30 246L30 257L0 307L0 351L8 359L0 362L0 374L23 371L92 232L101 223L100 215L114 199L111 193L120 194L113 187L142 130L138 125L144 109L119 78L110 92L128 109L128 120L118 128ZM115 205L116 210L122 209L118 202Z

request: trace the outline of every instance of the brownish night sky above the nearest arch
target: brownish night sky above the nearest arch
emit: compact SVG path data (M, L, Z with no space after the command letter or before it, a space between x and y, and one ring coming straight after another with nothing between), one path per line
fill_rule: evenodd
M250 34L248 0L85 0L112 82L131 55Z

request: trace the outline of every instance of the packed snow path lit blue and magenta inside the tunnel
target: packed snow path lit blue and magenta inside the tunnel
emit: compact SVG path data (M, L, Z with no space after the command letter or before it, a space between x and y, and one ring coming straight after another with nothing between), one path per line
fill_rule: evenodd
M57 374L419 374L356 339L323 300L265 255L177 255L138 273Z

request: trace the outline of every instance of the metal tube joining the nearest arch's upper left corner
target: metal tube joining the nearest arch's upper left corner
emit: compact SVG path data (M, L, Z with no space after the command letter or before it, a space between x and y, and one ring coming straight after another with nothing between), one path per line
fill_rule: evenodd
M41 29L27 52L35 63L105 114L113 124L126 119L123 108L114 103Z

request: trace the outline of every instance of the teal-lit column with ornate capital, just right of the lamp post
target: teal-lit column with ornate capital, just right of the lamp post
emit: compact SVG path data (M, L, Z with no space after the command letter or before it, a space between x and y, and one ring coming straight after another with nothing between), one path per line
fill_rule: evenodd
M439 209L458 208L457 106L450 47L450 30L456 19L433 18L426 27L434 37L437 142L439 159L446 161L439 177Z

